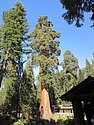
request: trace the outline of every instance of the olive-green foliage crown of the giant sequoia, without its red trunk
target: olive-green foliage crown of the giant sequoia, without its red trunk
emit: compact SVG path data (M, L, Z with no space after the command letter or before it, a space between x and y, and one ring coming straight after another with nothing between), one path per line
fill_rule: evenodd
M49 71L59 64L57 56L61 51L59 41L55 39L60 37L60 33L52 30L51 26L52 22L48 20L48 17L41 16L31 33L32 60L34 65L40 68L40 81L43 81L45 76L48 77Z

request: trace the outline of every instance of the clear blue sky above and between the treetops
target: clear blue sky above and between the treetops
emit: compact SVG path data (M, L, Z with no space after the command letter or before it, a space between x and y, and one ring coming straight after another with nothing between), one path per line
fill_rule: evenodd
M91 60L94 51L94 29L90 28L92 24L89 21L89 14L86 15L86 20L82 28L76 28L73 25L68 25L62 18L62 5L60 0L18 0L22 2L26 11L27 19L30 25L30 32L33 31L39 16L48 16L49 20L53 22L53 29L61 33L60 61L63 60L63 54L66 50L70 50L74 56L78 58L80 67L85 66L85 60ZM15 5L17 0L1 0L0 15L3 11L9 10ZM2 18L0 17L0 24Z

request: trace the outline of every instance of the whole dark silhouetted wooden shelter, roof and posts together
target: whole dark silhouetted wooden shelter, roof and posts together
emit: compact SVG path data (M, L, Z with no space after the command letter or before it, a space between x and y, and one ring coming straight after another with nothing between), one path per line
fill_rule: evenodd
M91 125L94 115L94 77L89 76L60 97L62 100L72 102L75 125Z

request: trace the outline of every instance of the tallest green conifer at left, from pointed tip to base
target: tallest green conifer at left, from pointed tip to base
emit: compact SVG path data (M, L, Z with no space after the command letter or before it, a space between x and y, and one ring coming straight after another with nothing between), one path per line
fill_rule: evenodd
M12 94L12 99L14 99L12 101L15 103L16 107L16 117L17 113L20 112L19 95L21 73L23 70L22 54L25 52L23 45L25 45L24 41L26 40L27 32L28 23L26 19L26 11L23 5L20 2L17 2L15 7L3 13L3 25L0 30L0 72L2 73L0 80L2 80L4 76L4 88L6 83L8 84L7 86L10 86L10 90L8 89L6 92L11 92L10 94ZM12 80L15 78L16 80Z

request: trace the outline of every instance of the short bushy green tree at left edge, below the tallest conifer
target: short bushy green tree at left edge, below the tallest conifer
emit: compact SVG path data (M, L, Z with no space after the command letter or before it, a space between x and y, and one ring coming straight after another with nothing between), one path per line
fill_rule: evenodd
M8 74L3 80L3 88L0 91L0 106L3 111L11 113L16 110L18 92L16 91L18 82L18 75L15 67L9 65Z

